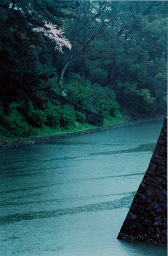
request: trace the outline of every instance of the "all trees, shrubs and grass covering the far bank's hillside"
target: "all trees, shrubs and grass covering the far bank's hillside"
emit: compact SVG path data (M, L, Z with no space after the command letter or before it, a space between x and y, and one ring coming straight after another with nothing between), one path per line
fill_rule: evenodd
M1 0L0 21L2 142L166 114L167 1Z

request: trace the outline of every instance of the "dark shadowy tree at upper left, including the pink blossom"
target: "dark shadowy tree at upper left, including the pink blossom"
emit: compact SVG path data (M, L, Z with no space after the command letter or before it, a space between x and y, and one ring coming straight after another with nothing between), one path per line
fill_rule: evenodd
M47 66L43 58L49 40L37 31L54 41L59 51L63 45L70 47L58 25L62 25L65 17L71 17L70 10L76 5L74 1L1 1L0 99L3 102L9 104L18 97L28 97L53 74L54 67Z

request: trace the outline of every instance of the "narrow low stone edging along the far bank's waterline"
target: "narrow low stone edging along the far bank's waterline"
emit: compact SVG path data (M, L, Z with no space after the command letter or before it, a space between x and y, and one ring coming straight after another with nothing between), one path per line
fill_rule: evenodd
M160 121L162 119L164 120L164 117L155 118L155 119L142 119L140 121L129 121L129 122L120 123L120 124L102 126L102 127L98 127L98 128L90 129L90 130L83 130L83 131L71 132L71 133L63 133L63 134L51 135L51 136L42 137L42 138L34 138L34 139L29 139L29 140L24 140L24 141L19 141L19 142L16 141L16 142L11 142L11 143L1 144L0 145L0 153L4 149L21 147L21 146L25 146L25 145L31 145L31 144L41 143L41 142L51 141L51 140L59 140L62 138L69 138L69 137L78 136L78 135L87 134L87 133L108 131L111 129L117 129L117 128L122 128L122 127L126 127L126 126L136 125L136 124L152 123L152 122Z

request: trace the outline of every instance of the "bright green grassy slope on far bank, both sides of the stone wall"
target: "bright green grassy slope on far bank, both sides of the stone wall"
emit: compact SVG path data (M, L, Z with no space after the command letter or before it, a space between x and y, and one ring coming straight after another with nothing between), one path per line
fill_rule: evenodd
M17 140L28 140L33 138L42 138L46 136L58 135L63 133L71 133L76 131L84 131L95 129L97 126L75 122L74 125L67 127L49 127L43 125L42 127L37 127L30 125L24 115L20 114L17 110L17 105L12 106L12 112L9 116L5 116L6 122L9 124L9 129L5 129L0 125L0 143L2 140L13 142ZM117 117L108 116L105 118L104 125L113 125L125 122L122 115Z

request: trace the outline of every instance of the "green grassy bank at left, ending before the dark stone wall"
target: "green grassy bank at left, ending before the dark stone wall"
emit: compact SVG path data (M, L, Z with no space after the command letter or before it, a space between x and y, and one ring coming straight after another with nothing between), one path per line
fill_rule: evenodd
M22 103L23 106L23 103ZM75 131L83 131L94 129L95 126L86 123L75 122L74 124L68 125L68 127L49 126L43 125L41 127L37 125L31 125L28 123L28 119L25 114L20 113L22 106L18 103L12 102L11 113L6 116L3 114L3 120L0 125L0 143L5 141L17 141L25 139L42 138L50 135L57 135L62 133L71 133Z

